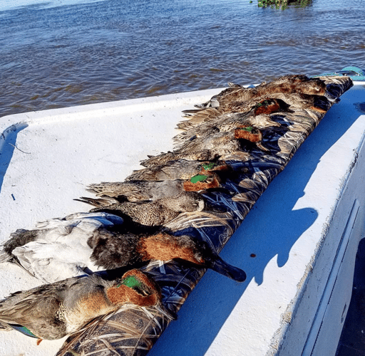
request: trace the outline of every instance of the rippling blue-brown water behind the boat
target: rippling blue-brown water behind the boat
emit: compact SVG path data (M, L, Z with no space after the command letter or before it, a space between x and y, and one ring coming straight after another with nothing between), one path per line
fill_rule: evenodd
M284 11L254 3L51 1L0 11L0 116L365 67L365 0Z

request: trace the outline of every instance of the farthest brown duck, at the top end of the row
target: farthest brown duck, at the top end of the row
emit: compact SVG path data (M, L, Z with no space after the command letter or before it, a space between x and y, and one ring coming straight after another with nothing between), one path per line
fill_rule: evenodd
M280 79L273 83L262 83L255 88L243 88L235 85L223 90L218 95L213 96L207 103L198 105L199 108L218 108L236 101L247 101L262 96L271 97L274 93L302 93L309 95L329 95L326 91L326 84L318 78L308 78L307 80Z

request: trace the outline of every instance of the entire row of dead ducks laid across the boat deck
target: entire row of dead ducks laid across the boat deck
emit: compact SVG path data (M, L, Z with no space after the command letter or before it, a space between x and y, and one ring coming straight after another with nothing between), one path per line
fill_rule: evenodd
M45 284L2 300L0 328L55 340L125 305L153 307L174 319L159 278L145 268L151 261L202 273L211 268L245 281L245 271L218 256L259 197L245 174L253 166L255 172L281 172L292 154L278 144L292 125L287 115L320 118L339 101L335 91L323 78L306 75L255 88L230 84L184 112L175 150L148 157L141 162L145 168L124 182L91 184L87 191L96 197L78 200L93 209L16 230L2 244L0 261L16 263ZM205 226L196 223L207 216ZM215 229L217 221L231 221L227 216L234 223ZM209 239L212 229L219 248Z

